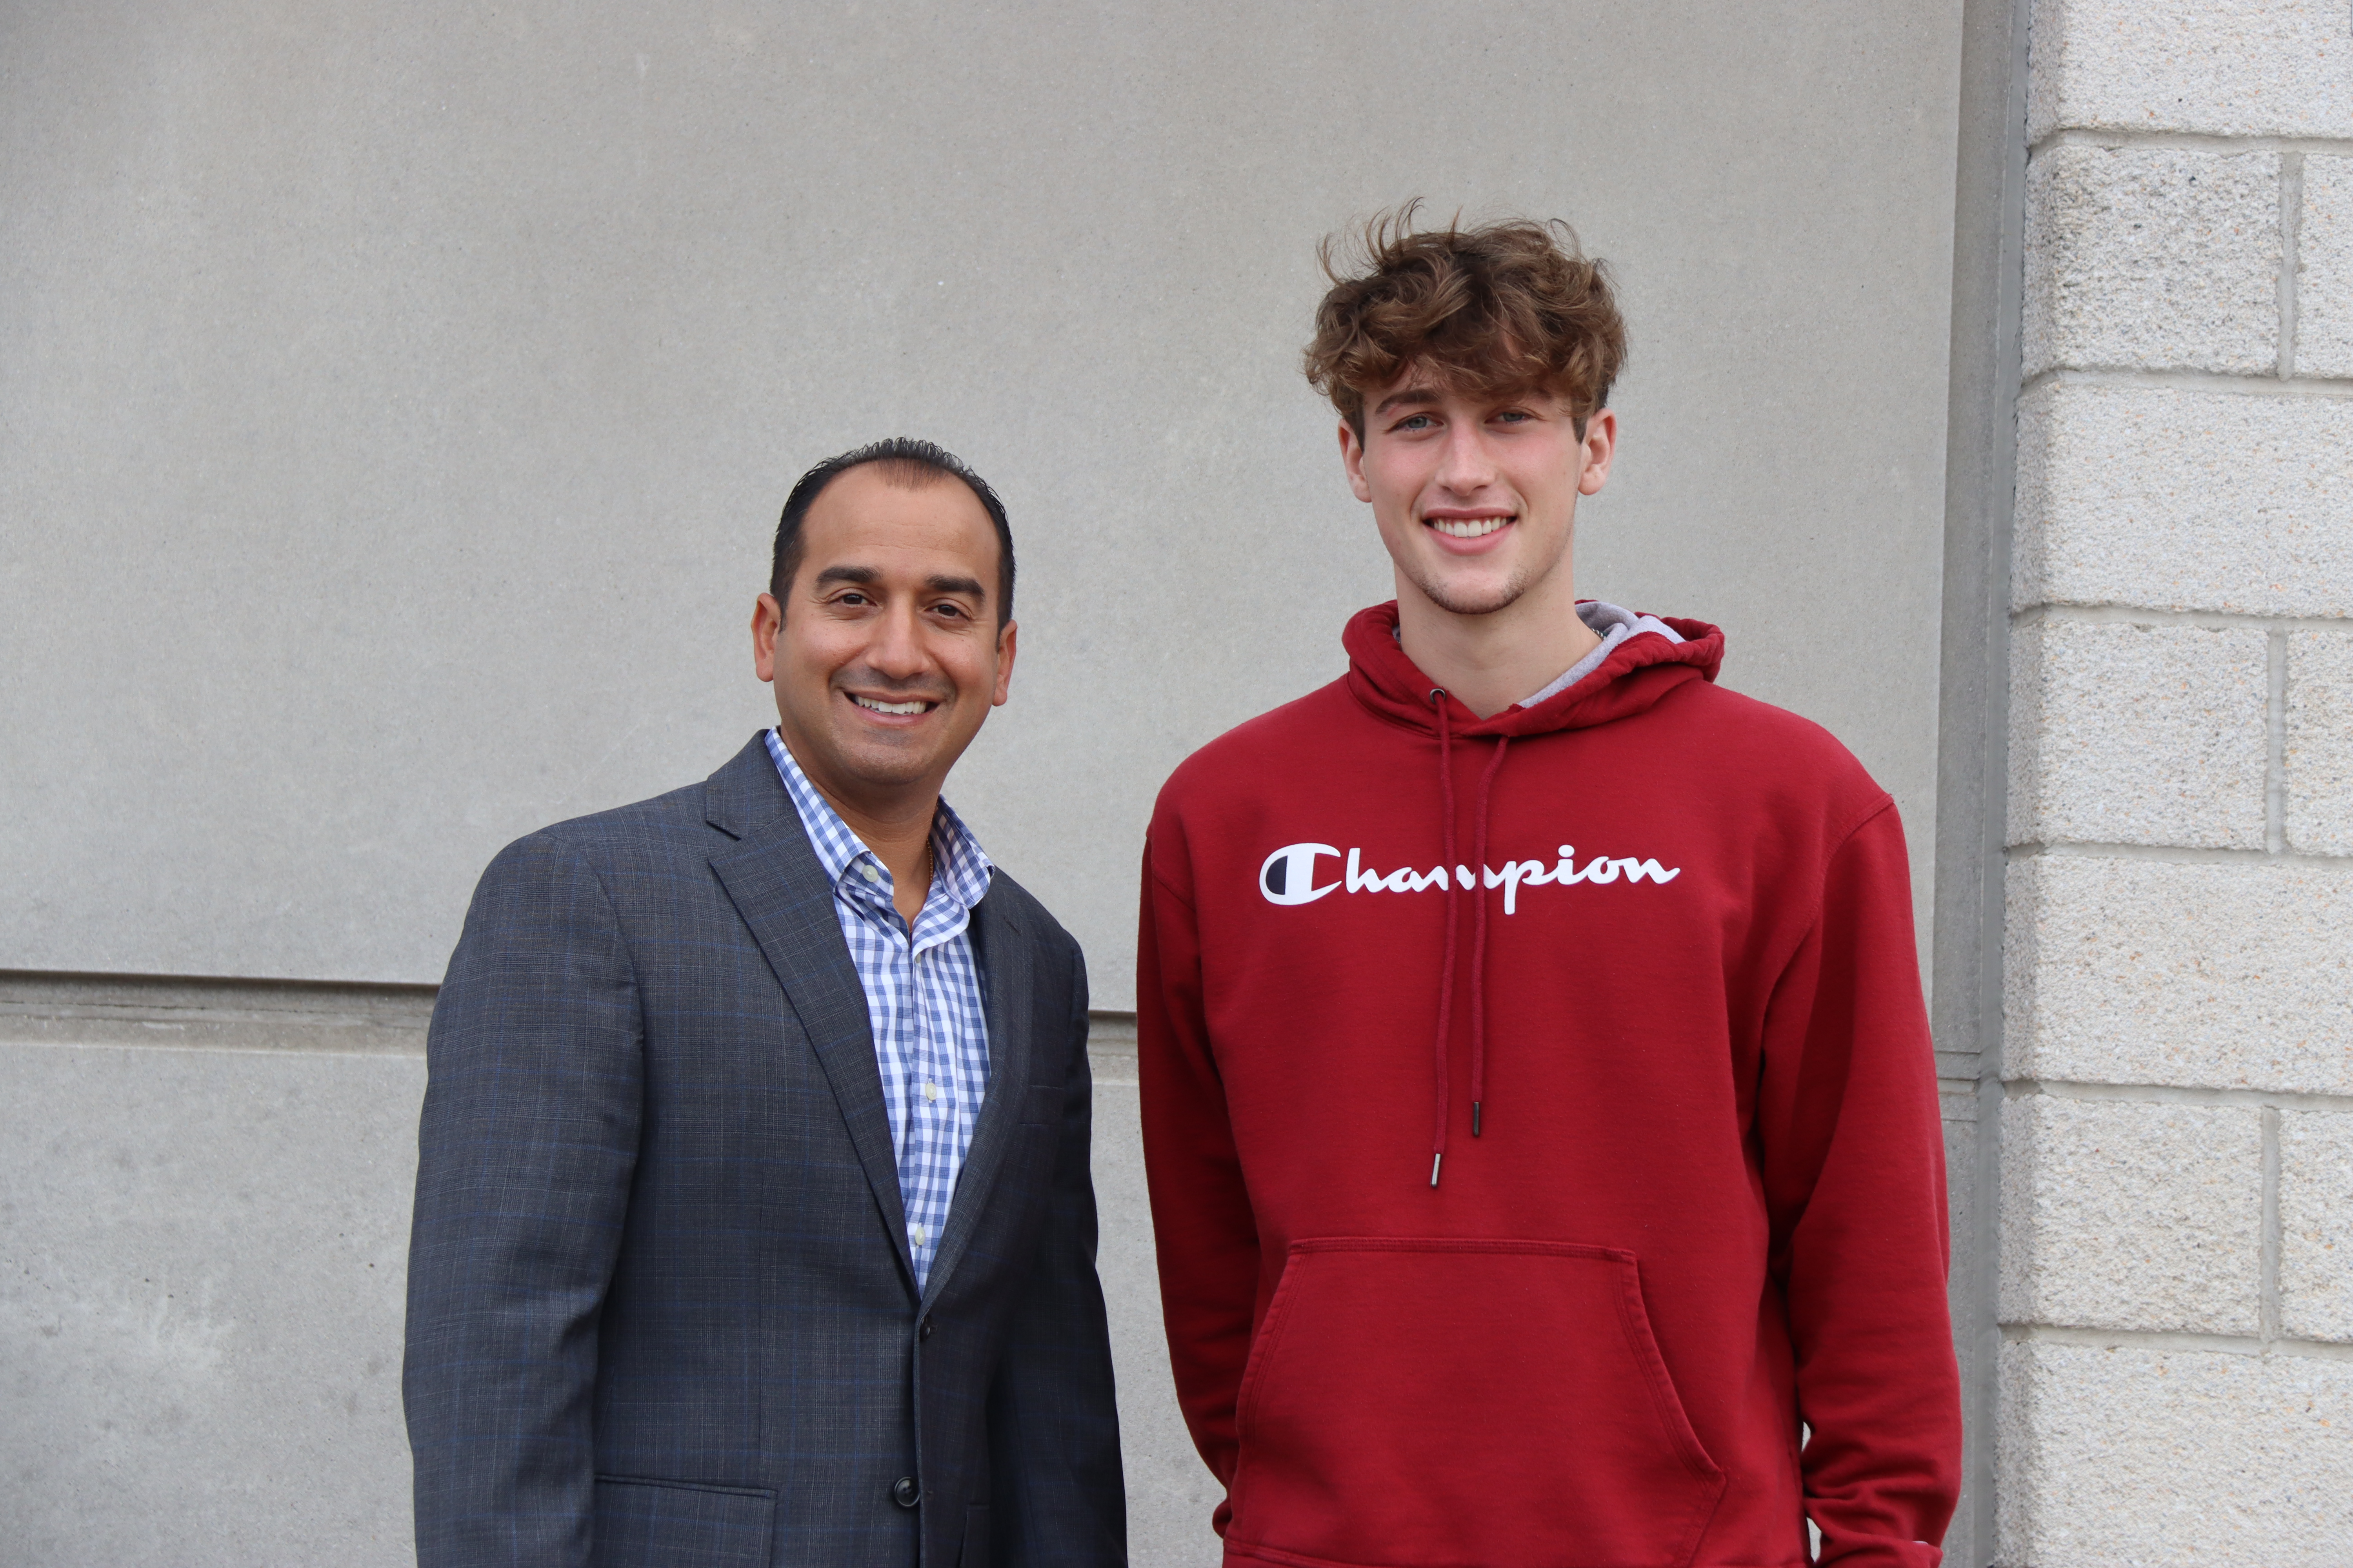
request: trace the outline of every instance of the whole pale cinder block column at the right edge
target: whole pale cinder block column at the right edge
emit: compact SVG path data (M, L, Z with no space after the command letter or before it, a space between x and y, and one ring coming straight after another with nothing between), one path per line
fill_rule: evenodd
M2353 1561L2353 7L2038 0L1995 1552Z

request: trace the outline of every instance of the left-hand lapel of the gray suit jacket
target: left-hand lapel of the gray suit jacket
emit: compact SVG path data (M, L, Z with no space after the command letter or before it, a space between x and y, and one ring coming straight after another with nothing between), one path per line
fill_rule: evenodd
M866 990L833 914L826 867L809 849L793 797L784 792L760 736L711 776L704 804L711 825L736 839L711 856L711 870L751 926L786 1001L800 1018L809 1048L826 1070L842 1121L849 1126L849 1145L866 1171L866 1185L873 1187L882 1229L913 1291L915 1260L906 1244L906 1206L899 1199L899 1161L889 1145L889 1110L882 1105L882 1070L875 1067Z

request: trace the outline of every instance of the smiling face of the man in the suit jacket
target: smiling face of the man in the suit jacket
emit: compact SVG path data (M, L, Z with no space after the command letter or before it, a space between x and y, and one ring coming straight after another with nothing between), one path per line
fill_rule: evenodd
M852 468L809 505L786 604L760 595L753 658L802 773L838 806L920 806L1005 701L998 536L969 487Z

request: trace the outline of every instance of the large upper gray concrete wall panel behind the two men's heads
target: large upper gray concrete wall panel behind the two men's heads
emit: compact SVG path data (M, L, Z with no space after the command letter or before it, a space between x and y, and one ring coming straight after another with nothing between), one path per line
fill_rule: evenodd
M953 797L1132 990L1167 769L1388 595L1325 230L1579 221L1581 585L1894 788L1927 879L1960 0L0 12L0 964L435 980L494 849L708 773L793 475L1012 503Z

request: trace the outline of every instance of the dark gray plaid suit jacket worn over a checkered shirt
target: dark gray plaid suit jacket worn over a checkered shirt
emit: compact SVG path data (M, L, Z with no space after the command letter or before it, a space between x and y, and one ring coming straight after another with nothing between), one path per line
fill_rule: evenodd
M1005 872L972 938L991 1081L918 1298L866 997L760 738L492 860L419 1128L424 1568L1125 1561L1087 973Z

